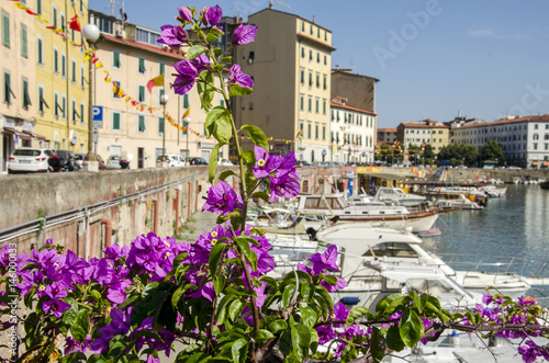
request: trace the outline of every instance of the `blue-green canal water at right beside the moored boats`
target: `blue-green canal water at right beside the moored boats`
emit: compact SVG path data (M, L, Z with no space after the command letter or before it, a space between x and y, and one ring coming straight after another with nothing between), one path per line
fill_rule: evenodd
M442 234L425 239L425 249L459 270L549 277L549 190L501 186L507 188L506 196L490 198L484 209L440 214L435 226ZM542 297L548 292L546 286L531 293Z

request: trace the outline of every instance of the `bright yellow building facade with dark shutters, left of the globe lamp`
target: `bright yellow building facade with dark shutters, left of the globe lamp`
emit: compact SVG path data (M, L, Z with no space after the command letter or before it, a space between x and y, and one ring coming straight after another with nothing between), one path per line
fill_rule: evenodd
M86 154L89 68L85 49L71 44L80 45L83 42L81 34L68 29L68 22L75 15L78 15L81 26L88 22L88 1L36 1L35 5L34 12L48 21L34 20L35 131L43 138L38 140L38 146Z

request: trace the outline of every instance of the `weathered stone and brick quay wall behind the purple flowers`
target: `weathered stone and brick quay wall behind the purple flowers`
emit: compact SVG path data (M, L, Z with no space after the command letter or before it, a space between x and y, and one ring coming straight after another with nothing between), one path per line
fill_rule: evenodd
M220 167L217 172L224 169ZM234 168L237 171L236 168ZM310 193L330 193L340 168L300 168ZM235 190L235 178L227 179ZM177 236L208 195L208 166L0 177L0 248L29 252L47 239L100 256L150 231Z

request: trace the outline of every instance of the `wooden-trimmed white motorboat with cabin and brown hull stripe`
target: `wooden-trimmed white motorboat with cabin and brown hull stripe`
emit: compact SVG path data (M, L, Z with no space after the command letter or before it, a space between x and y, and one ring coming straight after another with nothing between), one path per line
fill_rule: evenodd
M349 205L339 194L300 194L300 213L324 213L338 223L368 222L372 226L406 228L413 231L427 230L438 218L436 207L405 207L402 205L360 204Z

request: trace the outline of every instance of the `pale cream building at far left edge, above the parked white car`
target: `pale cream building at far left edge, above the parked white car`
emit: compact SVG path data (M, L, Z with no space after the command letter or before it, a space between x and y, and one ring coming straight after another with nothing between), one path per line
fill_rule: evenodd
M15 148L37 145L36 44L34 16L10 1L0 3L0 172L4 172Z

